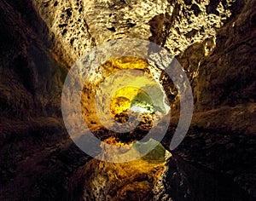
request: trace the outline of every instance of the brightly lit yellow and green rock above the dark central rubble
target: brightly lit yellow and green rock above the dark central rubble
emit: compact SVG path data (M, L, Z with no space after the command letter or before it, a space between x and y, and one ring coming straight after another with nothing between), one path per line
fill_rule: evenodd
M126 70L125 74L120 70ZM90 76L84 83L81 103L88 127L96 130L102 128L104 123L112 125L110 115L114 118L121 112L157 112L157 115L169 112L166 93L159 80L153 77L157 71L161 72L136 57L108 60L92 74L90 69L85 71Z

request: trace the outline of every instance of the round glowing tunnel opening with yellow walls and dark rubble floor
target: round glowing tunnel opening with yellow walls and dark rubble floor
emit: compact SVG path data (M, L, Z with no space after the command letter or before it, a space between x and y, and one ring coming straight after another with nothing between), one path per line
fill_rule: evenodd
M96 71L89 70L81 107L90 131L104 141L111 137L128 144L142 140L154 124L170 112L165 89L155 77L161 71L150 66L147 60L132 56L113 58ZM115 122L129 123L138 116L140 122L129 132L109 129Z

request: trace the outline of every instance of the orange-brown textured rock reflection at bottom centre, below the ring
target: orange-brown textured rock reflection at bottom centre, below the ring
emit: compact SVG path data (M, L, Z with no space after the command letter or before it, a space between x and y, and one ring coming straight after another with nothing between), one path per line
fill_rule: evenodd
M116 143L113 139L108 142ZM130 152L130 153L129 153ZM112 157L113 152L104 153ZM124 155L133 154L132 151ZM124 157L121 155L119 157ZM84 200L150 200L152 188L163 174L166 159L171 157L160 144L143 158L126 163L108 163L92 159L79 169L71 181L73 191L79 189L77 180L82 181L84 189L73 196ZM73 182L75 182L73 186Z

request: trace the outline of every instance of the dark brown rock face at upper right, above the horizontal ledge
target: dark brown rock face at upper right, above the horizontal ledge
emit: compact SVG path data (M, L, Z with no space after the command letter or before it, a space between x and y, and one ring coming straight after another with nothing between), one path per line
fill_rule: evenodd
M195 81L198 109L255 101L255 11L250 6L253 4L255 1L248 1L236 19L218 30L216 49L201 61Z

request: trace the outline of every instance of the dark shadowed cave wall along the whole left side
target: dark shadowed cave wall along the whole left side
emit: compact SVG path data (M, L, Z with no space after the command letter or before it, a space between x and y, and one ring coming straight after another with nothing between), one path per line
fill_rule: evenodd
M67 65L31 1L1 1L0 27L0 200L61 199L86 160L61 119Z

